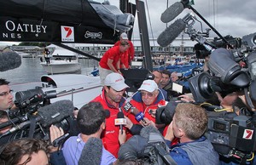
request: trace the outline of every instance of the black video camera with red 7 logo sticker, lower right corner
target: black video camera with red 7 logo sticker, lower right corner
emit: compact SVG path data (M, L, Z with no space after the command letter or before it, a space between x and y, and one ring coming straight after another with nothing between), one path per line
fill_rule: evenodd
M249 159L256 151L255 131L252 117L209 117L205 135L222 156Z

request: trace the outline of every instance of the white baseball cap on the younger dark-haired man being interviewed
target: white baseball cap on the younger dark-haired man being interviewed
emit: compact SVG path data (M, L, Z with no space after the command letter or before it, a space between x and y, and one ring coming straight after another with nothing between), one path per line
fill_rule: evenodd
M129 88L129 86L125 84L125 78L119 73L114 73L114 72L108 74L108 76L105 78L104 85L110 86L116 91Z

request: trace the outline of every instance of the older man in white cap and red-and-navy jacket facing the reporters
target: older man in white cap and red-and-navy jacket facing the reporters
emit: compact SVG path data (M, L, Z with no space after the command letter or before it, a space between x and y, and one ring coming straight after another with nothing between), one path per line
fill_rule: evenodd
M160 106L167 104L164 95L161 93L158 85L154 80L144 80L140 88L138 88L137 94L134 94L131 99L131 105L137 108L138 111L144 113L145 117L149 121L155 122L155 112ZM134 116L128 115L131 122L137 124ZM158 128L163 126L156 125Z

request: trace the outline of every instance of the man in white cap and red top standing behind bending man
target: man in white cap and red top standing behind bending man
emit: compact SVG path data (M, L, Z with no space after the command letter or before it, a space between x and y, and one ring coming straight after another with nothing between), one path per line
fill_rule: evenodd
M125 54L122 54L120 60L120 68L130 68L131 60L134 59L134 46L128 39L127 34L125 32L121 33L119 41L117 43L114 43L114 46L118 46L120 43L123 42L128 42L129 48L126 50Z

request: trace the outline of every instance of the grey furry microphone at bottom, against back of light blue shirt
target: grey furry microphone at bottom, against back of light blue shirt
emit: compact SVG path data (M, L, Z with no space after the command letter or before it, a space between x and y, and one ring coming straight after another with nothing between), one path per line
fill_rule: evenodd
M91 137L84 145L79 165L98 165L102 162L102 139Z

